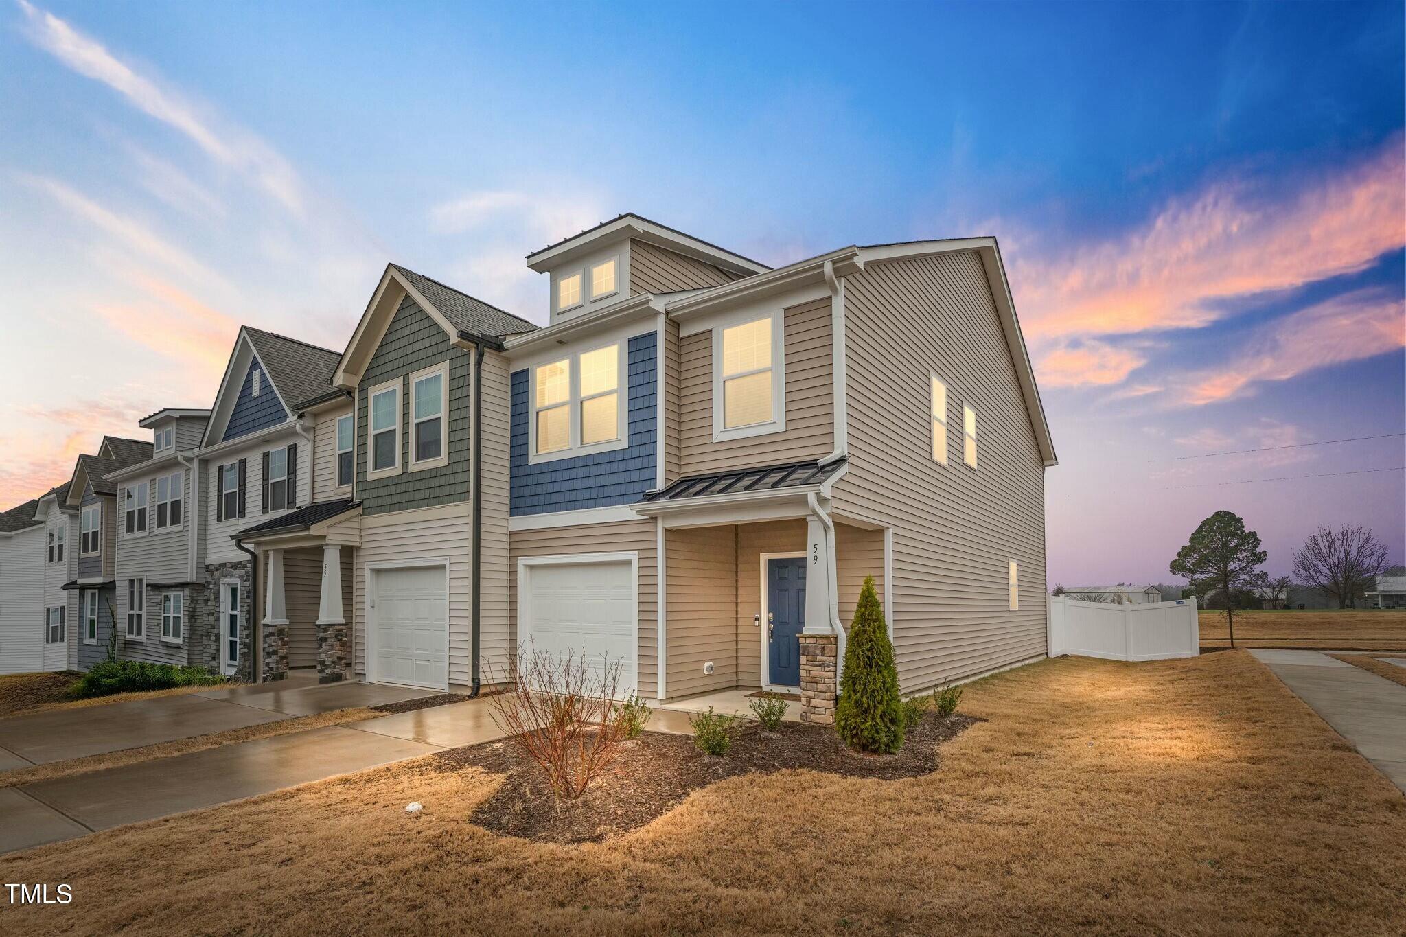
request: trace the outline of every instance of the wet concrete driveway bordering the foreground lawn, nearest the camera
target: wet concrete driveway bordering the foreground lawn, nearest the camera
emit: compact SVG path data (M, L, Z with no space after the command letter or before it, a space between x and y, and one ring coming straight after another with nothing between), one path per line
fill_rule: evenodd
M353 686L367 684L347 684ZM353 691L347 695L360 694ZM287 705L307 705L299 700L304 697L299 695ZM221 701L204 702L214 705ZM124 704L104 708L117 705ZM277 718L288 716L277 714ZM21 788L0 788L0 853L499 738L502 732L488 715L488 701L467 700L39 781Z

